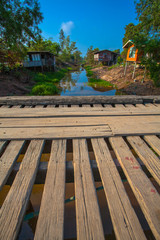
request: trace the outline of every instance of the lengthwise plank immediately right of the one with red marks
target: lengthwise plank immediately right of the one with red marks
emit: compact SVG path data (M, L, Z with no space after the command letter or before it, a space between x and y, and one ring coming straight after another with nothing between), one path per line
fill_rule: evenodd
M127 137L127 140L136 151L144 165L148 168L149 172L160 184L160 160L147 146L147 144L140 137Z

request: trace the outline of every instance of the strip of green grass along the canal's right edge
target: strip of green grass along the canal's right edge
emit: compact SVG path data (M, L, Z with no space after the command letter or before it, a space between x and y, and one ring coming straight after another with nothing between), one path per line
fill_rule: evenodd
M97 78L94 78L94 72L91 70L93 69L92 66L85 66L84 67L86 72L87 72L87 77L89 77L89 82L88 82L88 86L91 86L91 87L104 87L104 88L113 88L113 84L108 82L108 81L105 81L105 80L102 80L102 79L97 79Z

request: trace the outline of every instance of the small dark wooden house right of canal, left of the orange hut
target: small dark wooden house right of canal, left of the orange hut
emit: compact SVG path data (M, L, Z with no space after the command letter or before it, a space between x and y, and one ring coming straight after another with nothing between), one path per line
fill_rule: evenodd
M115 53L109 50L97 51L94 53L94 61L102 62L104 65L112 65L117 63L117 57L119 53Z

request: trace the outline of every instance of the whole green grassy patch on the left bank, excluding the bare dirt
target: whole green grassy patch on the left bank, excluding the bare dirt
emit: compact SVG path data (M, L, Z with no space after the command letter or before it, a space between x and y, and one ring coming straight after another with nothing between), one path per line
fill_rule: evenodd
M58 83L65 74L71 71L72 68L61 69L58 72L39 72L32 73L32 79L36 82L31 90L31 95L55 95L60 92Z

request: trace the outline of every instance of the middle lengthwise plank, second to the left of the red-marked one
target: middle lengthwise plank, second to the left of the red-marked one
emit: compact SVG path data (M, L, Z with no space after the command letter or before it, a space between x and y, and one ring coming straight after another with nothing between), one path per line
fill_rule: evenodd
M104 239L87 143L73 140L77 239Z

